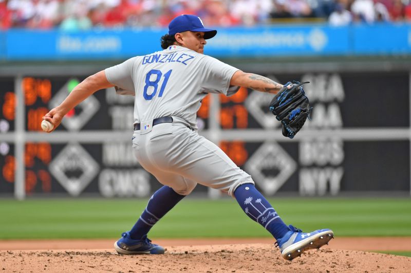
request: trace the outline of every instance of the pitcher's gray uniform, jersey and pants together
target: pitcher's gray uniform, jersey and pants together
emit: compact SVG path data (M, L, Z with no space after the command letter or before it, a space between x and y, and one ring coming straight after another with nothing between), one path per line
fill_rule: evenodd
M233 195L254 183L221 149L197 134L196 112L207 93L234 94L230 80L238 69L213 57L179 46L137 56L107 68L117 93L135 95L133 149L144 169L180 195L197 183ZM172 116L173 123L153 126L153 119Z

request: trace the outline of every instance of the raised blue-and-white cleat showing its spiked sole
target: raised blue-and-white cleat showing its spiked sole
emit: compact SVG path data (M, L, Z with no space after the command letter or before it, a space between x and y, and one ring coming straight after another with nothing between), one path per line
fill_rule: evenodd
M289 225L289 227L291 230L274 244L275 246L279 246L281 256L289 261L301 256L306 250L320 248L328 244L328 242L334 238L334 233L328 228L303 233L303 230L295 228L292 225Z

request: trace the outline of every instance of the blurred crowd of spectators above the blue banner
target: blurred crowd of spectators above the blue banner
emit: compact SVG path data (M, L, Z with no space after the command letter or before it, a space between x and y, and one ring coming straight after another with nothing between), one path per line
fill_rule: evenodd
M180 14L196 14L207 26L341 26L411 21L411 0L0 0L0 29L166 27Z

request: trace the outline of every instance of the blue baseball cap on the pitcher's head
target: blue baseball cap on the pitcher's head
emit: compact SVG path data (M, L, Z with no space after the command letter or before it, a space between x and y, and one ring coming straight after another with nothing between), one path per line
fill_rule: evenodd
M204 32L204 39L210 39L217 34L215 29L206 29L200 17L190 14L183 14L175 17L169 24L169 35L174 35L184 31Z

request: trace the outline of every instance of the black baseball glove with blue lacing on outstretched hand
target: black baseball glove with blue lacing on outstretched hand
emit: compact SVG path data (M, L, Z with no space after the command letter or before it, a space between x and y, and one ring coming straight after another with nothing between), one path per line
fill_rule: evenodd
M303 90L306 82L287 82L270 102L270 111L283 124L283 135L293 138L312 110Z

